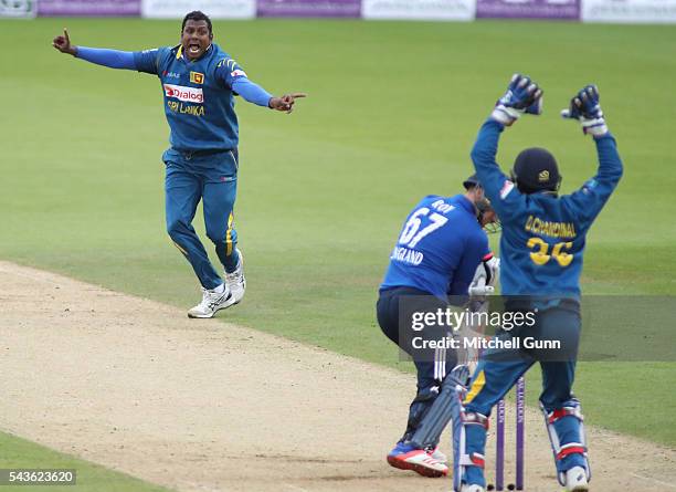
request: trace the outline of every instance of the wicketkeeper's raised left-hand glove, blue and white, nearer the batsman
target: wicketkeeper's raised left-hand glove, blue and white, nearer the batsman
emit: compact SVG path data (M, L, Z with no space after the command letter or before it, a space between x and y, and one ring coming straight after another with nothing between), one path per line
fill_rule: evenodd
M542 90L529 77L516 73L509 82L507 92L496 103L490 117L509 126L525 113L531 115L542 113Z

